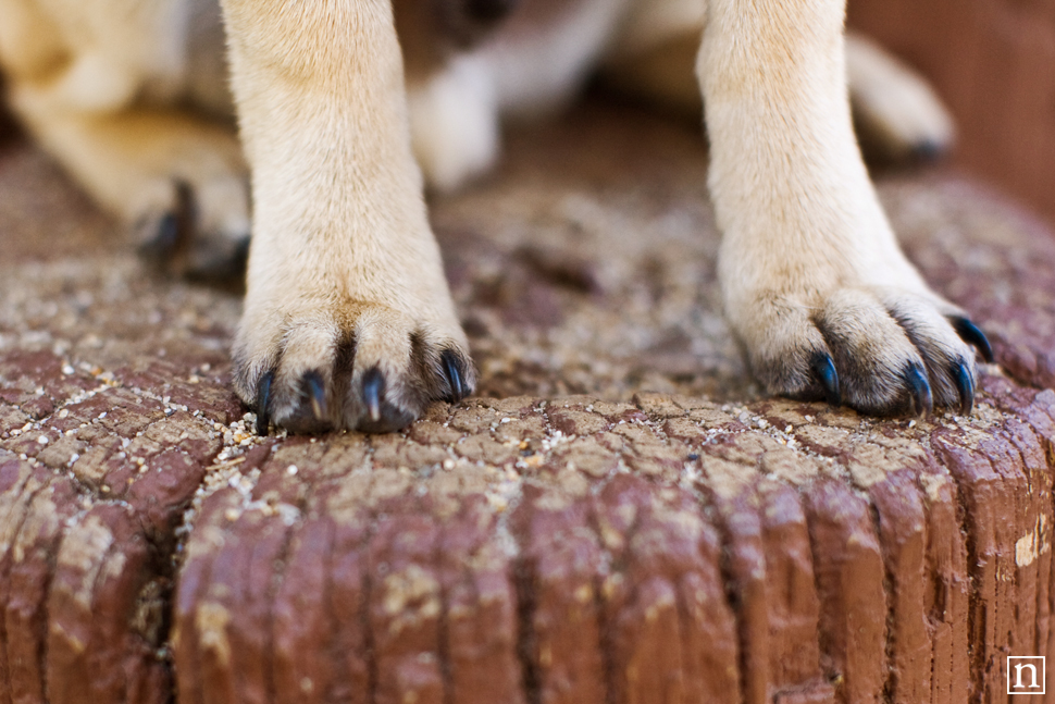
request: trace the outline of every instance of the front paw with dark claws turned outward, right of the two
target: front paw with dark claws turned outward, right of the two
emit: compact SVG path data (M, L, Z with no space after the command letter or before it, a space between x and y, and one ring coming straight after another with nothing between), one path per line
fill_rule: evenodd
M862 413L921 416L944 407L968 416L975 350L993 359L963 311L904 289L842 288L812 305L766 296L746 318L740 322L749 330L743 336L750 366L770 393Z

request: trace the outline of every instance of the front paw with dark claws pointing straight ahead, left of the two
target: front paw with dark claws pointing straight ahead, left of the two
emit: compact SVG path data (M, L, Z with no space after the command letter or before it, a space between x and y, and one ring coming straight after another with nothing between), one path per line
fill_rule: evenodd
M272 423L294 433L396 431L430 403L456 403L475 386L460 330L384 305L249 316L234 351L235 390L261 435Z

